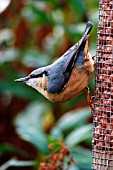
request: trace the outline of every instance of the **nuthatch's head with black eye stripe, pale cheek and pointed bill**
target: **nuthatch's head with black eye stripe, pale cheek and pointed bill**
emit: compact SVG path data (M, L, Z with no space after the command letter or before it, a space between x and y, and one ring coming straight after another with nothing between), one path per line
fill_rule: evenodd
M41 92L47 88L47 73L44 68L39 68L31 72L27 77L16 79L16 82L24 82L27 85Z

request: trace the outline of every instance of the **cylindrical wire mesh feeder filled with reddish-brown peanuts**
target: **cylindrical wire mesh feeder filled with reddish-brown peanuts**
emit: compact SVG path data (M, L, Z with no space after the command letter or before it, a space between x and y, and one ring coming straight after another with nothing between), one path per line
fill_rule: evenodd
M93 114L93 170L113 170L113 0L100 0Z

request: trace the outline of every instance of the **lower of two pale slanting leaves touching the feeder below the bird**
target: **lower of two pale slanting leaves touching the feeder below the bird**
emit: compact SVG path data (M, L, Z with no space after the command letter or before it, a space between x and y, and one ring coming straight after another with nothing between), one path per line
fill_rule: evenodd
M92 124L84 125L73 130L66 138L65 142L69 147L77 145L92 136Z

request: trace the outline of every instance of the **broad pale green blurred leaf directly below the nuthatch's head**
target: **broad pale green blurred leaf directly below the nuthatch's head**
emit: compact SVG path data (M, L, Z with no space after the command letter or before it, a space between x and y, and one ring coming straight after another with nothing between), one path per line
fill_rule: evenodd
M44 153L48 153L48 138L42 128L43 115L49 107L38 101L31 103L15 119L17 133Z

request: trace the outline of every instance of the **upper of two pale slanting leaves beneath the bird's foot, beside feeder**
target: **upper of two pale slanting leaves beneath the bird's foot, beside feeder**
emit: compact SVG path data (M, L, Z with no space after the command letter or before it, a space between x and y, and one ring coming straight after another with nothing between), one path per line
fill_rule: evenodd
M63 132L69 131L85 123L91 115L89 107L78 111L70 111L63 115L55 127L51 130L51 135L55 139L63 138Z

